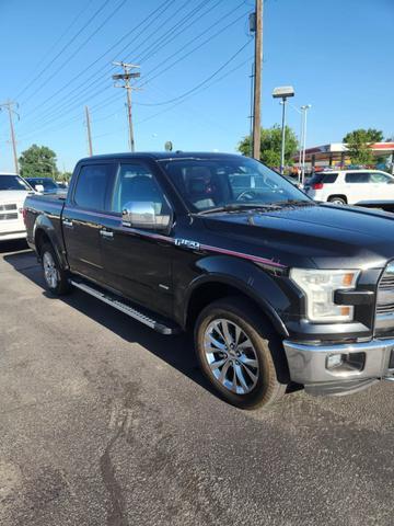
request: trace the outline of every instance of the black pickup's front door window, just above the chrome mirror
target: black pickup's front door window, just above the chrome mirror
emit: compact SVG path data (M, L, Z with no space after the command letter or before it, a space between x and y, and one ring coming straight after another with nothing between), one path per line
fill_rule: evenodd
M120 213L128 203L149 203L157 216L169 216L170 206L150 170L138 162L120 164L114 197L113 211Z

